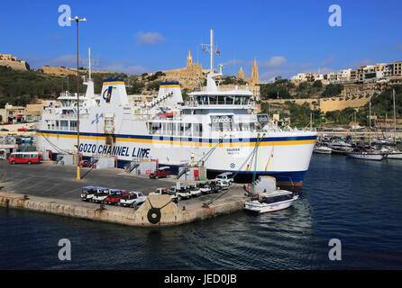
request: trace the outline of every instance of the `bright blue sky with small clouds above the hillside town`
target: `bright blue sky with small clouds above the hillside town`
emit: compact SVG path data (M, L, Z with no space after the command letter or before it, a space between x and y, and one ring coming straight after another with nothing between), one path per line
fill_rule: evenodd
M331 10L337 4L340 9ZM209 68L214 29L221 52L215 64L225 75L240 67L251 76L254 58L260 80L289 78L302 72L339 71L402 60L402 1L21 1L2 0L0 53L13 54L31 67L76 67L76 23L65 20L60 5L79 23L80 66L91 48L94 69L139 75L186 66ZM340 26L333 26L329 18Z

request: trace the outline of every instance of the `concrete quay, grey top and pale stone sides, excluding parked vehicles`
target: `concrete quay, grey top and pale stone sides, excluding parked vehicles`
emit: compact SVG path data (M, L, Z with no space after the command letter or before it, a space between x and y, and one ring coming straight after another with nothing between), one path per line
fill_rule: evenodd
M114 168L88 171L87 168L82 169L81 175L84 178L76 180L75 166L11 166L2 161L0 206L130 226L155 227L179 225L240 211L244 202L250 201L250 197L244 196L242 185L233 184L227 193L201 195L182 200L178 204L170 202L168 195L149 195L147 201L137 210L83 202L80 200L81 188L87 185L142 191L148 195L158 187L174 185L177 181L173 176L154 180L145 175L132 175ZM203 203L213 198L216 198L215 202L207 208L203 207ZM158 213L158 221L151 223L150 219L155 219Z

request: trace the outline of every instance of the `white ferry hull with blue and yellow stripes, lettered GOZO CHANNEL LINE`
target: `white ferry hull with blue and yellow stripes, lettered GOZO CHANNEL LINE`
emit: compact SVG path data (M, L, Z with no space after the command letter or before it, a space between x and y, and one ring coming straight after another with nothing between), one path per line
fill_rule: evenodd
M208 171L216 173L239 171L255 147L256 138L257 133L254 139L224 139L211 157L206 159L204 166ZM288 135L284 135L284 132L278 135L272 133L270 137L264 137L257 153L257 175L274 175L279 184L301 185L310 163L315 138L315 133L308 132L288 132ZM106 144L105 134L87 132L86 129L81 129L79 139L79 150L83 157L115 156L120 166L129 165L128 162L136 157L158 159L160 165L180 166L189 163L192 153L196 162L219 141L219 138L155 137L122 133L115 135L113 144ZM37 130L36 141L37 148L43 151L73 153L74 149L71 148L77 145L77 132ZM254 164L246 165L240 174L251 175L253 170Z

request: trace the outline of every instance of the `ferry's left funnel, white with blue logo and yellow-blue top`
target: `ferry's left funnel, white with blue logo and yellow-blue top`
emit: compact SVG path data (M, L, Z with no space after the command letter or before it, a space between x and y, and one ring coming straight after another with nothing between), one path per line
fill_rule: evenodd
M106 79L102 86L100 105L113 109L128 105L123 79Z

